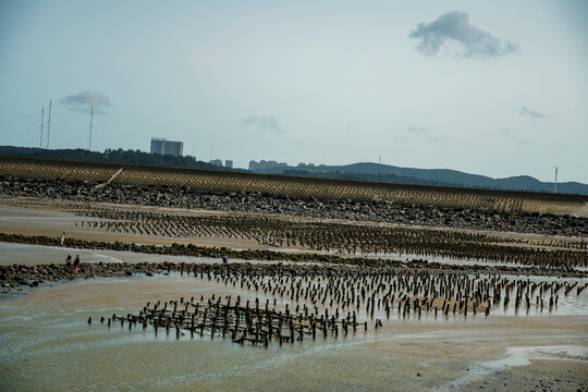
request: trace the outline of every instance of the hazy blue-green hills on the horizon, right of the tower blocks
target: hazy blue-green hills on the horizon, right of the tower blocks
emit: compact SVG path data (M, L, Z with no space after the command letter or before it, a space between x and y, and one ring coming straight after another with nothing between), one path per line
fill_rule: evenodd
M346 166L307 166L269 168L257 173L310 176L319 179L359 180L416 185L457 186L504 191L553 192L553 183L528 175L492 179L449 169L400 168L372 162ZM558 183L558 193L588 195L588 185L578 182Z

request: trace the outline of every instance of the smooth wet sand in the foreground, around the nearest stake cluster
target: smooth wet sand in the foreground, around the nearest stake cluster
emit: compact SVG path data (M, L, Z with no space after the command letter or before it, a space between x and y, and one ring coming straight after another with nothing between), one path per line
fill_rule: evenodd
M554 368L573 370L569 390L587 382L586 294L562 304L563 315L394 316L377 331L264 348L97 322L135 313L148 301L256 296L216 281L97 279L26 292L0 302L1 390L506 390L504 381L507 390L536 390L523 380L541 372L563 377ZM518 380L522 373L529 376Z

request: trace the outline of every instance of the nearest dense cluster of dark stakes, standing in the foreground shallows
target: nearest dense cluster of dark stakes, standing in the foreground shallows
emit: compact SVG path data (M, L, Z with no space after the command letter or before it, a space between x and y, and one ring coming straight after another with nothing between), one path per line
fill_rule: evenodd
M347 335L358 330L368 330L367 321L357 322L355 311L347 313L345 318L339 318L335 315L329 317L328 309L320 317L308 313L296 315L290 313L287 305L283 313L270 309L267 304L265 309L259 308L259 301L256 301L255 307L249 307L248 301L245 306L242 306L240 296L234 305L231 304L231 296L228 297L225 304L220 297L216 302L208 299L206 304L195 303L194 297L191 301L184 301L182 297L180 302L170 302L169 307L167 302L163 306L160 305L160 302L152 306L147 303L138 315L117 316L113 314L107 320L108 327L110 328L117 321L120 321L123 327L126 321L130 330L139 324L143 329L151 326L156 335L159 330L164 330L167 334L170 330L175 330L177 339L186 333L189 333L191 338L194 338L196 333L200 336L206 333L211 339L216 335L221 335L223 339L230 336L235 343L250 342L254 345L264 346L268 346L272 341L278 341L280 345L295 341L302 342L305 335L316 340L317 335L327 339L336 338L340 333ZM105 320L105 317L100 318L100 322L103 323ZM91 323L91 317L88 323ZM381 327L381 320L376 319L375 328Z

